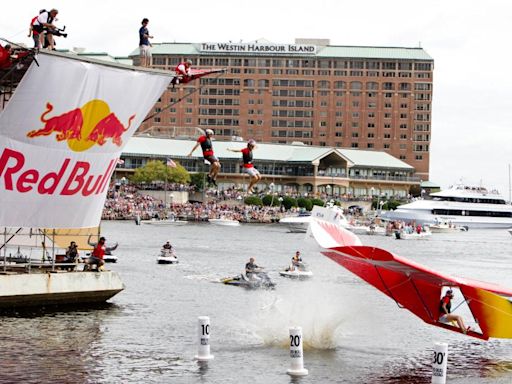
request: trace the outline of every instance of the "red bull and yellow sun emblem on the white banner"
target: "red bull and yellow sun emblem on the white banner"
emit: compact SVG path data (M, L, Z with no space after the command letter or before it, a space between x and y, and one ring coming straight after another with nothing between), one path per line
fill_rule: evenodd
M44 126L30 131L27 137L50 136L55 133L57 141L67 141L69 148L75 152L86 151L92 146L104 145L110 139L113 144L121 146L123 134L130 129L135 115L130 116L125 127L110 111L106 102L99 99L85 103L81 108L48 118L53 105L46 104L46 111L40 120Z

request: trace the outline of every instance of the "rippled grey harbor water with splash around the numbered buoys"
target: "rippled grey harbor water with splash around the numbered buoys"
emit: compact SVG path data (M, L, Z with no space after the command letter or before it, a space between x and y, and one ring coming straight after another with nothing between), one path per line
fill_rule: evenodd
M119 242L125 290L94 309L0 317L0 383L430 383L433 345L449 345L449 383L511 383L512 340L481 341L423 323L320 254L313 239L279 225L136 226L104 222ZM512 287L506 230L434 234L425 240L360 236L436 271ZM158 265L169 240L178 265ZM314 273L280 277L296 250ZM272 291L219 283L249 257ZM461 301L456 295L454 306ZM470 314L462 313L469 324ZM197 318L210 317L208 363L197 354ZM290 326L302 327L304 366L289 368Z

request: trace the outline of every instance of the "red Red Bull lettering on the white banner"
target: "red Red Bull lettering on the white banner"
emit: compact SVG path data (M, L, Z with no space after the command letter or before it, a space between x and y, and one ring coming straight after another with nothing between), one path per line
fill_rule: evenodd
M41 173L25 167L23 153L4 148L0 155L0 181L8 191L35 192L40 195L90 196L105 191L114 172L116 159L110 160L104 172L92 174L87 161L65 158L55 172Z

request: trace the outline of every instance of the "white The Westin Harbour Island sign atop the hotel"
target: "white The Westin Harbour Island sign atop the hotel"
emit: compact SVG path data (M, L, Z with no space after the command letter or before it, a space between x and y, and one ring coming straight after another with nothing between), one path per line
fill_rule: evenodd
M271 43L201 43L201 52L316 54L316 45Z

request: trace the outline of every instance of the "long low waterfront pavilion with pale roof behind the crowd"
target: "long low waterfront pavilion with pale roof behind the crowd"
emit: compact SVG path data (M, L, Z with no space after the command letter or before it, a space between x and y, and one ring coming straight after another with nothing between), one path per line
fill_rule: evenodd
M127 143L118 164L116 177L129 176L149 160L172 158L190 173L207 172L200 147L192 157L188 153L194 140L133 137ZM215 155L222 168L219 189L247 186L241 154L245 141L214 141ZM254 166L262 175L258 190L278 193L325 194L333 197L406 196L411 187L419 186L414 168L381 151L317 147L289 144L257 144Z

